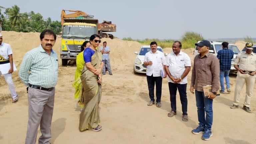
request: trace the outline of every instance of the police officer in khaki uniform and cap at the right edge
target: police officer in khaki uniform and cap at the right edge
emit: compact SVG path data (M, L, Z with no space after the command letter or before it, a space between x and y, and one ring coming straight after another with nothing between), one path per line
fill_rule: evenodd
M236 77L236 87L234 93L234 101L233 105L230 107L232 109L237 109L240 99L240 92L246 84L246 95L244 100L243 109L248 112L252 113L250 110L250 101L252 98L252 90L255 83L255 69L256 69L256 54L252 52L253 50L252 43L245 44L245 51L239 53L236 56L236 60L234 63L235 69L238 70L237 77ZM238 66L239 64L239 66Z

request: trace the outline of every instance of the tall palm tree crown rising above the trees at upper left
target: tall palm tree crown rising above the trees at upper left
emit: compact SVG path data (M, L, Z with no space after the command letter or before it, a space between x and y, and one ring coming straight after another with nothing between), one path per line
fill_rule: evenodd
M20 13L20 8L17 5L12 6L8 12L8 17L13 26L20 25L22 22L22 13Z

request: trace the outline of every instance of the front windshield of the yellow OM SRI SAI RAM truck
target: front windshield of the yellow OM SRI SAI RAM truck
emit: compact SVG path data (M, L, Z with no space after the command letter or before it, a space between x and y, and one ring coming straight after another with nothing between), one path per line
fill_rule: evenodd
M64 25L62 37L63 38L85 38L90 37L91 35L96 34L95 26L86 26L86 25Z

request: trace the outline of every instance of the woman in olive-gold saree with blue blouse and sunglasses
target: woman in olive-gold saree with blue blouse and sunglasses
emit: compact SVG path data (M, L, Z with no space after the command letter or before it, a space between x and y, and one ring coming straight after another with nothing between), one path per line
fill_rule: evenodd
M101 82L102 82L102 54L96 47L101 42L99 35L90 37L91 47L84 50L84 67L81 74L82 96L80 102L84 105L80 114L79 130L100 131L102 126L99 125L99 103L101 99Z

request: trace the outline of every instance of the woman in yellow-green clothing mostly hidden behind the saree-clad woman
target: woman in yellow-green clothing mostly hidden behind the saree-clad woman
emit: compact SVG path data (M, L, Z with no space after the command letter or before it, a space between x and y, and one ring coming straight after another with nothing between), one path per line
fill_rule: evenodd
M81 73L84 67L84 49L90 47L91 44L89 41L85 41L82 46L81 46L81 52L76 56L76 73L75 73L75 82L73 83L73 87L75 87L75 99L78 99L80 96L80 89L81 89ZM81 108L83 107L83 105L81 105L81 102L78 101L78 104L80 105L80 112L81 112Z

